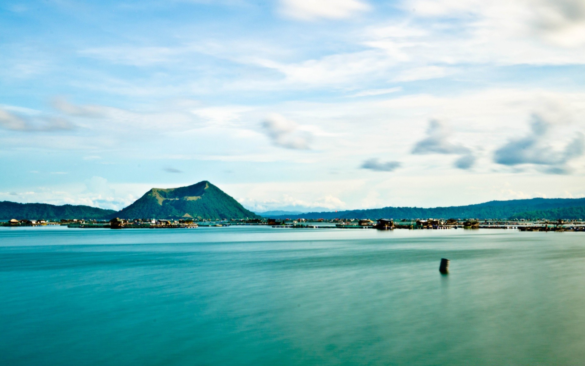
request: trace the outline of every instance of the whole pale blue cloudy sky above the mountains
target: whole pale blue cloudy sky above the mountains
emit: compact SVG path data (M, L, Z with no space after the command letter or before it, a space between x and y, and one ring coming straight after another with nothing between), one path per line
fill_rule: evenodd
M585 197L584 0L0 3L0 201Z

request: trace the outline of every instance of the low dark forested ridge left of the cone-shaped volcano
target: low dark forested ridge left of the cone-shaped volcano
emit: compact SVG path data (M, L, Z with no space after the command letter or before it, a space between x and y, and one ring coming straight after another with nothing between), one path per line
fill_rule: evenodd
M64 204L55 206L47 203L16 203L10 201L0 202L0 220L61 220L62 218L106 218L115 213L114 210L90 206L73 206Z

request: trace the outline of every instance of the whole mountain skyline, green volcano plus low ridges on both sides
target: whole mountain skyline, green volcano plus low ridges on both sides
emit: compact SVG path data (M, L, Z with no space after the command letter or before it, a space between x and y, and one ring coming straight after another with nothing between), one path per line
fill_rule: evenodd
M285 211L286 212L286 211ZM467 206L450 207L383 207L369 210L323 211L309 213L285 213L277 211L261 213L270 218L585 218L585 198L580 199L528 199L489 201ZM90 206L65 204L56 206L46 203L0 202L0 220L63 218L261 218L246 210L218 187L204 180L191 186L161 189L153 188L140 199L121 211L104 210Z

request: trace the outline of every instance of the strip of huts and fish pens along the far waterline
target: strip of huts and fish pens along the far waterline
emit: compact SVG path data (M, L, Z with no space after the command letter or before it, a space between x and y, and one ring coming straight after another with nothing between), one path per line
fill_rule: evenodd
M519 231L584 231L584 220L497 220L497 219L385 219L376 221L369 219L345 219L336 218L325 220L323 218L307 220L304 218L276 220L273 218L252 218L252 219L216 219L216 220L193 220L181 218L178 220L157 220L157 219L121 219L111 220L82 220L63 219L53 220L16 220L11 219L1 223L2 227L42 227L42 226L66 226L68 228L110 228L110 229L173 229L173 228L198 228L198 227L228 227L232 225L266 225L273 228L342 228L342 229L377 229L377 230L445 230L445 229L515 229Z

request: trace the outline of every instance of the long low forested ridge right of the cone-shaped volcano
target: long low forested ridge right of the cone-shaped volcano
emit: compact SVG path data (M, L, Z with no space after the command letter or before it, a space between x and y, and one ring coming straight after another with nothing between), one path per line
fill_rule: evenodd
M529 199L509 201L489 201L467 206L450 207L383 207L370 210L349 210L339 212L309 212L291 217L275 215L271 218L508 218L515 214L535 210L552 210L562 207L583 207L585 198L581 199Z

